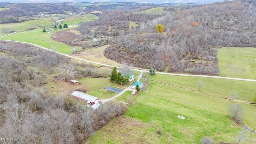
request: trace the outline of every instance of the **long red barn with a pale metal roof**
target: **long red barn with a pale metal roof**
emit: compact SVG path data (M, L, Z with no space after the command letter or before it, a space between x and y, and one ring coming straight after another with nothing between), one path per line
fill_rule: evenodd
M76 100L80 100L82 102L87 102L88 104L94 105L100 101L100 98L96 98L89 94L85 94L83 92L74 91L72 94L72 98Z

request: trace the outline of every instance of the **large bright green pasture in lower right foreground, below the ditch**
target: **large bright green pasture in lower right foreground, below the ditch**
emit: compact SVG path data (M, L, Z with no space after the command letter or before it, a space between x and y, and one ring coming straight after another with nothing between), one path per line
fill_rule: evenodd
M128 92L122 96L118 99L126 100ZM210 136L214 143L237 143L241 126L236 126L230 118L230 104L223 98L151 82L146 92L136 96L126 114L101 128L89 143L199 144L204 136ZM256 129L256 105L242 103L242 107L244 122ZM179 115L185 120L178 118ZM158 134L159 128L162 134ZM246 143L256 143L254 133L249 132Z

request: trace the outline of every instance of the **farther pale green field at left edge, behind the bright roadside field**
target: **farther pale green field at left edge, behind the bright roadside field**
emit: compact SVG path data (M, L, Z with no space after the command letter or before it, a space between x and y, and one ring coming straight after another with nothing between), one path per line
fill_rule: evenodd
M53 24L53 25L52 25ZM12 24L0 24L1 33L6 33L8 30L16 32L22 32L29 28L50 28L54 26L54 22L51 20L28 20L26 22L12 23Z

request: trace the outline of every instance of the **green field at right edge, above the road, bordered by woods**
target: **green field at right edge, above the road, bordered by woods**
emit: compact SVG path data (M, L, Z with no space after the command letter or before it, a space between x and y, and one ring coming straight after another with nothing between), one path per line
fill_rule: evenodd
M256 80L256 48L218 48L220 76Z

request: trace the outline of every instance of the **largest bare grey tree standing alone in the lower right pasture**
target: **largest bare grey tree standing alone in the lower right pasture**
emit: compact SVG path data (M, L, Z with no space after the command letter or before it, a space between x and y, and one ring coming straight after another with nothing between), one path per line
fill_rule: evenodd
M231 104L230 105L230 114L232 119L237 123L237 124L242 124L243 120L243 109L241 104Z

